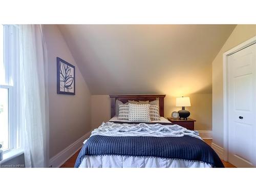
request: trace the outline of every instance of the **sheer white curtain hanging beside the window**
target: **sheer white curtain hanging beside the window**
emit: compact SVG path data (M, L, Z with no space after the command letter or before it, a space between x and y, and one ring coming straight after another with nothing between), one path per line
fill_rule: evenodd
M47 167L47 50L41 25L19 25L17 116L26 167Z

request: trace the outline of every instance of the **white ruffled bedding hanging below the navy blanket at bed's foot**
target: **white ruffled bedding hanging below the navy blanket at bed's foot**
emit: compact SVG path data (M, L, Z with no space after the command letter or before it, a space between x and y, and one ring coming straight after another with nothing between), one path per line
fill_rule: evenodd
M211 168L200 161L118 155L85 156L79 168Z

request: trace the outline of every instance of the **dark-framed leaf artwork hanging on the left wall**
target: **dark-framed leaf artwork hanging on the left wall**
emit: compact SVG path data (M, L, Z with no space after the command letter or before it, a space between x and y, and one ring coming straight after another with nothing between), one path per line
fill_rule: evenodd
M57 93L75 95L75 66L57 57Z

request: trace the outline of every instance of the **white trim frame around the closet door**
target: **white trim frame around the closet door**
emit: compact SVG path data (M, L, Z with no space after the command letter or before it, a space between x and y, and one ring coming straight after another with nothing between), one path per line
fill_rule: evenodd
M223 53L223 160L228 161L228 56L256 43L256 36Z

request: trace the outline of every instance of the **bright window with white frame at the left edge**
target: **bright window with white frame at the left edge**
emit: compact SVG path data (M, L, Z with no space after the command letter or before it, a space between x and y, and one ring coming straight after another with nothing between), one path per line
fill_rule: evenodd
M17 28L0 25L0 144L4 153L19 147L15 110L15 62Z

